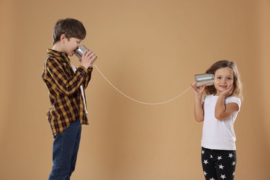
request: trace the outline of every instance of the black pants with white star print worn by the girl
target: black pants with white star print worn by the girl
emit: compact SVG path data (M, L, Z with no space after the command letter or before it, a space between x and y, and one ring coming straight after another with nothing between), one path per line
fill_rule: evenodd
M201 147L201 163L207 180L233 180L235 177L235 150L209 150Z

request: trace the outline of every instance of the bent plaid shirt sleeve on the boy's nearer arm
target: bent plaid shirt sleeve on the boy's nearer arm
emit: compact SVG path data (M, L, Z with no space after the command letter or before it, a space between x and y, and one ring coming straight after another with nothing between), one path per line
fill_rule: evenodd
M51 77L47 78L52 85L54 85L58 91L71 96L82 84L84 77L87 75L87 69L79 67L75 72L75 75L71 76L64 71L66 67L55 58L48 58L46 61L47 75Z

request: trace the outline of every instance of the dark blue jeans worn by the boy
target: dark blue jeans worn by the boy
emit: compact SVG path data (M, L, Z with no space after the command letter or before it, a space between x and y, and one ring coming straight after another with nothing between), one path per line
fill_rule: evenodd
M75 120L53 141L53 168L49 180L69 180L75 170L82 125Z

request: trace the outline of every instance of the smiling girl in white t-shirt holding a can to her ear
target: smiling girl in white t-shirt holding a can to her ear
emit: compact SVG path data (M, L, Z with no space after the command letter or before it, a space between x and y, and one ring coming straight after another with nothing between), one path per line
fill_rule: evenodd
M195 93L195 119L204 121L201 163L208 180L234 179L236 166L233 123L240 111L242 84L234 62L215 62L206 73L215 75L214 85L191 87ZM202 98L205 92L204 98Z

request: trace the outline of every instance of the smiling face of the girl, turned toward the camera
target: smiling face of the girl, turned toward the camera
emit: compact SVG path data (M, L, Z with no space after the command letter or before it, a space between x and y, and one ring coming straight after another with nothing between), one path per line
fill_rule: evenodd
M217 96L219 96L222 91L231 87L231 85L233 85L233 69L229 67L217 69L217 71L215 71L214 85L215 89L217 89Z

